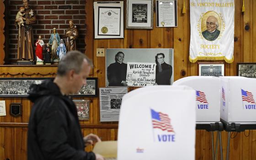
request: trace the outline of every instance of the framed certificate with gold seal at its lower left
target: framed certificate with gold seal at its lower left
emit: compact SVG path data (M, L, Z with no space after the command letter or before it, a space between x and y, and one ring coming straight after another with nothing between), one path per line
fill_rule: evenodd
M123 1L96 1L94 5L94 37L123 37Z

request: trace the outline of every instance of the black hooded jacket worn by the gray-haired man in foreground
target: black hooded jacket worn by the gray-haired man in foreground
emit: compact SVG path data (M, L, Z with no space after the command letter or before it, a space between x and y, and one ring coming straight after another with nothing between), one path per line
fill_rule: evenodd
M34 106L29 118L28 160L95 160L84 151L84 141L72 99L63 96L58 85L45 80L31 85Z

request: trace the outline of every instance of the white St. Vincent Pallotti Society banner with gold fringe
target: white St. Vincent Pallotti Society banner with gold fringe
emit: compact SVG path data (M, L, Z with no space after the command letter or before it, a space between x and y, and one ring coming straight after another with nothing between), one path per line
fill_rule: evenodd
M190 62L233 62L234 14L234 0L190 0Z

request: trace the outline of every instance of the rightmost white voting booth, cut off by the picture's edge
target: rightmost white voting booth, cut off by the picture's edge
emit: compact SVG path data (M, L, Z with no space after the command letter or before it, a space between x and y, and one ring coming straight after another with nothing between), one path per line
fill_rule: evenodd
M256 122L256 79L220 77L220 118L226 122Z

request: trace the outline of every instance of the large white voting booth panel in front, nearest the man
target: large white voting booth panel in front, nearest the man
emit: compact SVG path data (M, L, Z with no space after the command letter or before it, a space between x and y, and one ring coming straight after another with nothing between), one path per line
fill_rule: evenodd
M170 85L143 87L123 96L117 160L194 160L194 97L192 88Z

